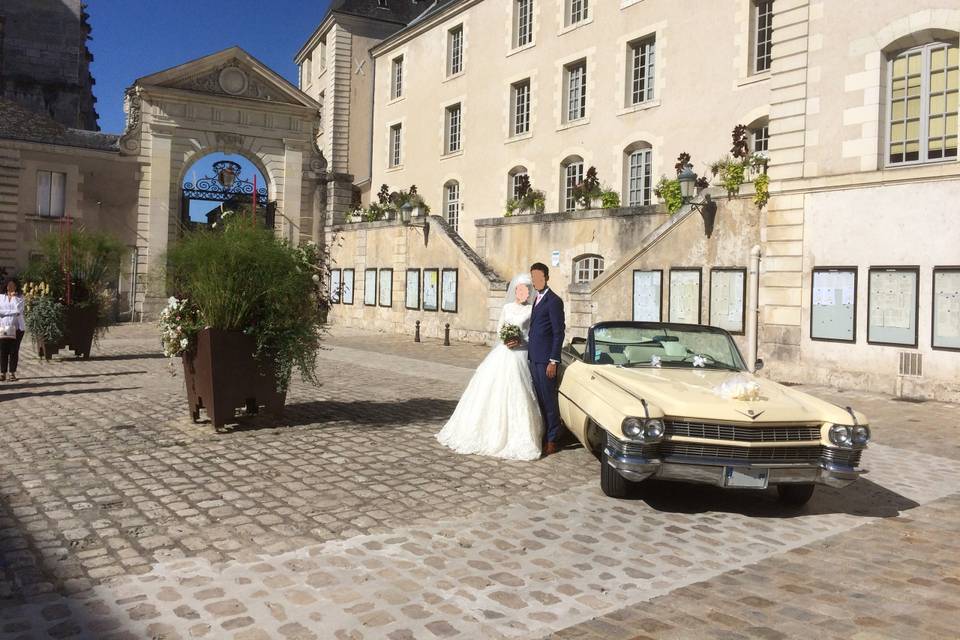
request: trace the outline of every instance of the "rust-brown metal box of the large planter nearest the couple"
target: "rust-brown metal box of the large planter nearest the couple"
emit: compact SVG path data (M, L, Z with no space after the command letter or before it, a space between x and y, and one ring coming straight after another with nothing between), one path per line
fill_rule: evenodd
M237 408L248 414L260 407L272 415L283 414L286 391L277 390L274 363L254 358L256 343L242 331L204 329L197 348L183 355L190 417L196 422L204 409L216 429L234 422Z

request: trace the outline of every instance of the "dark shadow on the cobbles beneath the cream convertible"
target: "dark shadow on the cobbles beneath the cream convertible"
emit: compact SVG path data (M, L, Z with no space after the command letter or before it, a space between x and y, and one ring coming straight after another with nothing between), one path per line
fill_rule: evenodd
M818 485L813 498L801 507L788 507L777 499L774 488L764 491L730 490L707 485L650 480L634 491L631 499L643 500L665 513L738 513L749 517L793 518L844 513L865 518L893 518L920 506L917 502L860 478L843 489Z

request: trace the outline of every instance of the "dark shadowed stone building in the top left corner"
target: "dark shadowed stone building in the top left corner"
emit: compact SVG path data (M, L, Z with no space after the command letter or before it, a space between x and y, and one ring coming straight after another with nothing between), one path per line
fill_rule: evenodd
M81 0L0 2L0 97L96 131L90 24Z

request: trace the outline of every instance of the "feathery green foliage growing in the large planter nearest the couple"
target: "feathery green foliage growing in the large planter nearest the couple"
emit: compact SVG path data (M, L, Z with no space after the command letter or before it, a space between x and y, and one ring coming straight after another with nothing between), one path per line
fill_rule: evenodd
M294 248L267 229L227 224L184 236L168 255L170 286L189 301L202 326L243 331L254 337L257 356L276 363L286 389L294 368L317 382L323 252L316 245Z

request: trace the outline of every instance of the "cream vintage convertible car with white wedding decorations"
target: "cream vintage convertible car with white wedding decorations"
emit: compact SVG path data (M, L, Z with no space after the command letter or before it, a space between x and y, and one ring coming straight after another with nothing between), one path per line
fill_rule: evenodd
M758 364L762 364L759 363ZM715 327L603 322L563 351L560 415L614 498L647 478L766 489L801 505L862 473L863 414L747 372Z

